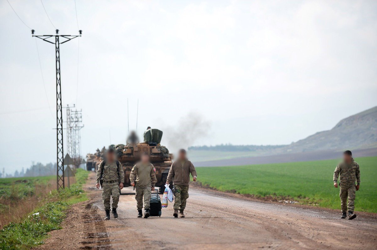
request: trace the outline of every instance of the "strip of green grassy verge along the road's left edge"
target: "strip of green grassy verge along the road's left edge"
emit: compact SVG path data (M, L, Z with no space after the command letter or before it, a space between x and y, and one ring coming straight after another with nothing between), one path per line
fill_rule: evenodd
M82 186L88 174L87 171L78 169L75 184L61 192L51 191L49 200L55 201L35 209L23 221L3 227L0 230L0 249L29 249L43 244L48 232L60 229L69 205L87 199Z

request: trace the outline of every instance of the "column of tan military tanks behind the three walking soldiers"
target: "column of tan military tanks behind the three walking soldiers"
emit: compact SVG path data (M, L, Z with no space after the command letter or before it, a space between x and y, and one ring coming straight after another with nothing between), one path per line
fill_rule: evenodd
M138 142L135 139L127 139L127 144L110 145L115 149L118 161L121 162L124 171L124 186L130 186L130 173L132 167L140 160L140 156L147 152L150 162L156 168L156 186L160 192L165 190L165 183L172 165L173 155L169 150L160 144L162 131L158 129L147 129L144 132L144 142ZM100 162L104 159L106 148L100 151L97 149L95 154L88 154L86 168L87 170L97 171Z

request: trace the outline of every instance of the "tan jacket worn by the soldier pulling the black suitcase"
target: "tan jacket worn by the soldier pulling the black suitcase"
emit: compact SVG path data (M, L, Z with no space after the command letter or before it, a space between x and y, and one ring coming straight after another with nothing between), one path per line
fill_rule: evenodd
M155 186L157 182L156 168L152 163L143 164L138 162L133 166L130 173L130 182L135 182L140 187Z

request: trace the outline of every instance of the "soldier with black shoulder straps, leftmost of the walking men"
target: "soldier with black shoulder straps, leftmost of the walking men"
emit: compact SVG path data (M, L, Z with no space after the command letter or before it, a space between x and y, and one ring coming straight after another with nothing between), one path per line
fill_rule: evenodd
M110 220L110 196L113 198L112 212L114 218L118 218L120 189L123 188L124 172L122 164L115 159L115 151L109 148L106 152L106 160L101 161L96 174L96 187L102 187L102 200L106 211L105 220Z

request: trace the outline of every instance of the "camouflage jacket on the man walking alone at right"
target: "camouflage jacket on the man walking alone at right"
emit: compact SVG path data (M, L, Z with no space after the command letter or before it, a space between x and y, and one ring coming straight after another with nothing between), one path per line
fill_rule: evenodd
M354 185L357 182L357 185L360 185L360 168L359 164L352 158L351 164L346 162L340 162L334 171L334 182L338 181L338 176L341 185Z

